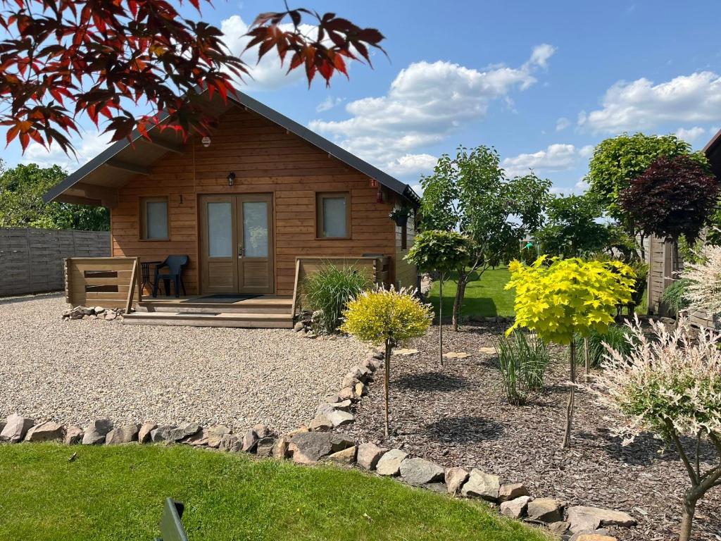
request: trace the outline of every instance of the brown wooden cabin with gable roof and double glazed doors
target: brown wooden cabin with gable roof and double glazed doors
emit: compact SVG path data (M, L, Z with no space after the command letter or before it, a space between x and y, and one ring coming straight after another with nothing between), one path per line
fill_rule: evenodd
M419 198L409 185L246 94L227 102L216 95L207 107L218 118L210 136L184 142L154 128L149 141L134 133L45 195L110 208L115 258L188 256L186 295L149 298L145 276L143 300L126 322L213 325L202 314L231 313L233 296L244 303L239 313L262 314L265 303L289 315L298 281L324 262L366 265L378 281L415 286L416 269L403 260L415 220L397 226L389 218L394 208L415 215Z

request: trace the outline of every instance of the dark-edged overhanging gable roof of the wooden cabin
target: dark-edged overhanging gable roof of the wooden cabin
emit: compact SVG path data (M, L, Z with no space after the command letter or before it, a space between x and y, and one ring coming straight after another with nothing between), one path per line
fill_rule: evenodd
M208 113L219 117L231 107L238 105L286 128L289 132L317 146L332 157L340 159L341 162L363 175L377 180L381 185L410 201L413 206L420 203L419 196L410 185L379 170L243 92L236 91L234 94L229 94L227 102L216 94L208 100L207 109ZM165 118L167 118L167 113L162 113L160 122L162 123ZM108 193L122 187L138 174L148 174L148 167L160 157L168 152L182 154L182 140L173 130L161 131L159 128L152 128L149 136L151 141L141 136L137 130L133 131L131 141L123 139L109 146L87 164L65 177L58 185L48 190L48 193L43 196L43 200L46 203L64 201L100 206L106 196L110 198Z

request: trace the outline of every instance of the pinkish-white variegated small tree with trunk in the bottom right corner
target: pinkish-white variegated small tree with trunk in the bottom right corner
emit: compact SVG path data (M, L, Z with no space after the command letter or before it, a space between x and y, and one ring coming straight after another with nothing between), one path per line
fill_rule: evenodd
M628 325L631 351L609 348L598 379L601 396L629 421L616 428L619 434L632 439L650 430L676 447L691 480L679 535L687 541L696 503L721 487L721 335L702 330L694 338L683 316L673 330L652 321L653 339L637 319ZM691 439L691 449L684 446L684 436ZM704 440L716 449L711 466L699 457Z

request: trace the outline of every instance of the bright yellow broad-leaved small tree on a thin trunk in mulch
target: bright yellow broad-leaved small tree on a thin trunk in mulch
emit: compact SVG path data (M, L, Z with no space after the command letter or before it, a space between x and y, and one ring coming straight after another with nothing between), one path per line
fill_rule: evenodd
M619 261L583 261L541 256L533 265L512 261L505 289L516 289L516 322L507 335L526 327L546 342L570 348L570 392L563 447L570 447L575 403L576 359L574 335L590 330L605 333L614 322L616 306L631 300L634 273Z

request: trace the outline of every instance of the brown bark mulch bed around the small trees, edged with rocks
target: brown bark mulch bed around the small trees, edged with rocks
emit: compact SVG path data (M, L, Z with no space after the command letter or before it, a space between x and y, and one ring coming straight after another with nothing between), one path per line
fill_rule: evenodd
M616 413L584 390L576 395L572 448L561 449L568 371L564 350L554 351L545 387L528 405L508 405L495 355L479 353L502 332L498 324L469 325L459 333L448 327L444 350L472 356L446 359L445 366L438 361L437 332L415 340L410 348L420 353L392 359L394 434L384 438L382 377L376 377L358 406L355 423L343 431L444 466L478 467L525 483L536 497L627 511L639 524L615 532L622 540L677 538L689 479L676 452L650 434L622 446L611 434ZM702 456L712 460L712 447ZM698 540L721 540L721 489L712 489L699 503L695 532Z

